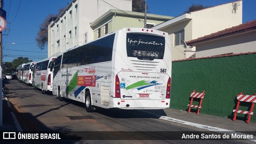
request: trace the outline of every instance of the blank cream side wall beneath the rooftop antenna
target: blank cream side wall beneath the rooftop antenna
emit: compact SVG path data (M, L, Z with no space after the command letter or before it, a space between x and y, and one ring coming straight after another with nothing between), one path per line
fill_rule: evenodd
M242 0L239 3L236 14L232 13L232 2L191 12L192 40L242 24Z

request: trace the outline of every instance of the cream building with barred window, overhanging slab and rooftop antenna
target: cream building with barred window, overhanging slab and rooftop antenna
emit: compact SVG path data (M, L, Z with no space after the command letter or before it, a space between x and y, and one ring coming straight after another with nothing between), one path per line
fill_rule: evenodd
M237 6L235 11L234 4ZM196 56L196 47L185 49L182 40L190 41L239 24L242 24L242 0L182 14L152 29L168 32L172 60L181 60Z

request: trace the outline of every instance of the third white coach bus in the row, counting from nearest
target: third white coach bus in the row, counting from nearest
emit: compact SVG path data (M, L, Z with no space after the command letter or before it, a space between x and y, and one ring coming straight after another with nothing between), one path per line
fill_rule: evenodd
M28 62L23 66L21 81L26 85L32 84L33 77L31 67L34 66L34 64L36 64L36 62Z

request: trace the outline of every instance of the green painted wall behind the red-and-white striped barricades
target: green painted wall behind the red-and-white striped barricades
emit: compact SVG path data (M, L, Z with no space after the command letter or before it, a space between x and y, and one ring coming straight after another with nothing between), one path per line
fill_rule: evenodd
M188 110L193 90L205 91L200 113L233 118L237 94L256 93L256 54L172 62L170 108ZM250 106L240 103L239 110L249 111ZM256 122L255 113L256 106L251 122ZM247 120L247 115L238 114L236 119Z

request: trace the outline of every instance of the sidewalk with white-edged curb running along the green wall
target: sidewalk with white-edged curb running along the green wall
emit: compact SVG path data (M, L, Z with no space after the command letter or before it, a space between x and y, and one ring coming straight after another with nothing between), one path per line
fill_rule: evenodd
M206 129L210 126L210 130L212 131L247 131L247 132L256 132L256 123L250 122L249 124L246 123L247 120L242 118L243 120L239 120L238 118L236 121L230 118L223 118L219 116L207 115L207 114L196 114L194 112L188 113L187 111L176 110L171 108L164 109L166 116L160 116L160 119L175 121L178 123L184 123L196 126L198 128ZM154 113L154 111L152 112ZM231 112L230 112L231 113ZM252 115L252 118L255 117L255 114ZM194 123L194 124L193 124ZM213 129L215 128L215 130Z

